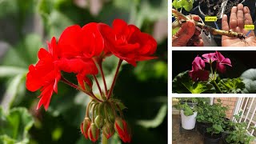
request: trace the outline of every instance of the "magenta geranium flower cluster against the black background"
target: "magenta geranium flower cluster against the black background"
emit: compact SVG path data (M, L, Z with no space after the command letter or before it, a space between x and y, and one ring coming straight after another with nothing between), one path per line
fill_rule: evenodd
M192 62L192 70L190 70L190 78L194 82L196 81L207 81L209 78L210 71L205 70L206 63L210 64L211 73L213 73L213 62L216 62L216 70L220 73L226 71L226 66L231 66L230 58L225 58L220 52L202 54L201 57L194 58Z

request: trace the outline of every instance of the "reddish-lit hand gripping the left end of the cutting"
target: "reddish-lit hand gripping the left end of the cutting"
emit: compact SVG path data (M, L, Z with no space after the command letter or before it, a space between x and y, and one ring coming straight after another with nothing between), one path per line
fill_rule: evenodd
M199 21L198 15L193 15L194 21ZM196 29L194 21L183 23L172 38L173 46L203 46L201 31Z

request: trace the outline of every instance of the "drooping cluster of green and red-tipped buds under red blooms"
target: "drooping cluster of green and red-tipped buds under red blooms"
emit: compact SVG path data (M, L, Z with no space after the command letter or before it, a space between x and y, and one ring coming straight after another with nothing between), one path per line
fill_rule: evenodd
M107 139L117 132L123 142L130 142L130 131L122 114L125 108L122 102L113 98L103 102L91 100L81 124L82 134L86 139L96 142L101 130Z

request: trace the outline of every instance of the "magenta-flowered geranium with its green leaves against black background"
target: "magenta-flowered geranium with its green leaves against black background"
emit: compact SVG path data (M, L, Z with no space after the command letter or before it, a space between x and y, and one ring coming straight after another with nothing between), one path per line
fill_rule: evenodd
M230 58L220 52L202 54L192 62L192 70L178 74L173 80L174 93L242 93L245 84L241 78L219 78L226 72L226 66L232 67ZM209 69L210 70L209 70Z

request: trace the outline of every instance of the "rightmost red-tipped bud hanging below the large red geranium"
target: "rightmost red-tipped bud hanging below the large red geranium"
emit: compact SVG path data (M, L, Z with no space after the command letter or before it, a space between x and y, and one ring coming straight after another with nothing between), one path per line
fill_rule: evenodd
M125 120L122 118L115 118L114 130L118 133L123 142L130 142L131 135Z

